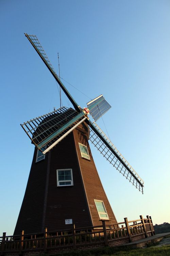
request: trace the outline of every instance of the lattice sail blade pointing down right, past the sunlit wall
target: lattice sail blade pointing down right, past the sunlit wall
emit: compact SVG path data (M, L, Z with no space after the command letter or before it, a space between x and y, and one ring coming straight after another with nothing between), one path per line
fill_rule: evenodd
M88 120L90 126L89 140L99 152L109 161L127 180L129 180L143 194L143 180L130 166L128 161L120 154L113 143L107 138L105 133L95 123Z

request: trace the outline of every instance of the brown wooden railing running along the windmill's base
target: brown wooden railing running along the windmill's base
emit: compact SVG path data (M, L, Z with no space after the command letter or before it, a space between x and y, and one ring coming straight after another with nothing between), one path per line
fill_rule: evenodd
M44 233L24 234L22 230L19 236L3 236L0 237L1 255L7 252L18 252L22 254L28 251L44 251L55 248L73 248L103 244L108 245L112 241L128 238L129 242L133 241L133 237L138 234L153 236L155 234L151 217L146 219L140 215L140 219L128 221L124 218L124 222L116 224L107 224L107 221L101 220L102 225L75 228L72 229L48 231L44 228ZM120 227L121 226L121 227Z

